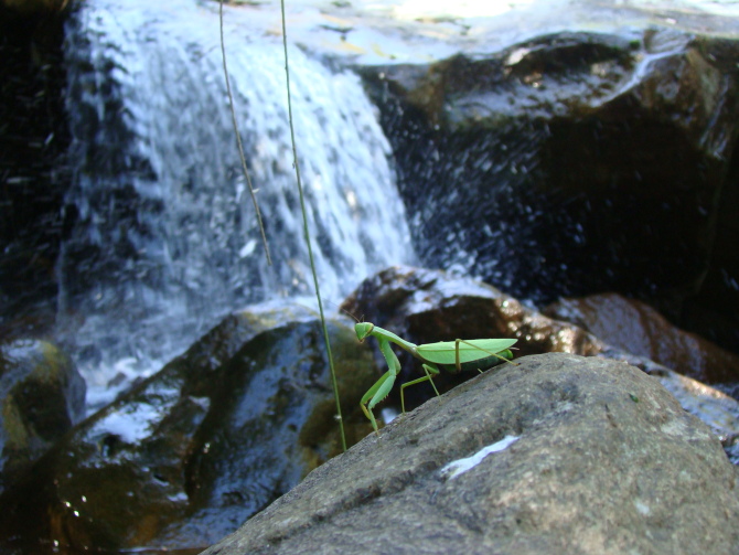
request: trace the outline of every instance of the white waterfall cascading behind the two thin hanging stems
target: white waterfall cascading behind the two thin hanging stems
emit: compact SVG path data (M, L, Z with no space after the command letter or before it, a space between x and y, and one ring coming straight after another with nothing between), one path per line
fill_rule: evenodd
M218 6L90 0L67 29L74 184L58 265L60 337L88 403L157 370L223 313L313 293L288 128L281 38L225 11L239 130L270 242L260 244L223 77ZM390 147L360 78L291 46L299 162L322 295L409 262ZM107 387L107 388L106 388ZM97 399L97 401L96 401Z

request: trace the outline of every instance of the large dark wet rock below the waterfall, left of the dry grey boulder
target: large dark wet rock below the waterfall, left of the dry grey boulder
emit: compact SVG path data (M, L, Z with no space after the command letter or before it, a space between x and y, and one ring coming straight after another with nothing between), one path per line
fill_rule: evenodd
M371 430L352 410L376 371L351 328L329 331L353 442ZM232 314L0 497L0 538L24 553L203 548L341 450L335 412L312 311Z

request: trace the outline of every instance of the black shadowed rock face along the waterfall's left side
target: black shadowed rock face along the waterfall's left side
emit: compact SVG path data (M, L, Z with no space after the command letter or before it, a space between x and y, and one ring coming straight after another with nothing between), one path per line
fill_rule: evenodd
M0 1L0 339L49 337L57 308L55 267L72 180L66 18L52 7L58 3Z

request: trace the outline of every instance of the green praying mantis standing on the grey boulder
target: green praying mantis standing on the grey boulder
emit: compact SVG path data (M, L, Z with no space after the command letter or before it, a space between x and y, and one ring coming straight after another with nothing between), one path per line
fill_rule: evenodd
M462 366L463 364L469 366L469 363L475 363L476 369L480 370L479 366L490 367L497 363L499 361L495 361L495 359L511 362L513 353L510 348L516 342L515 339L458 339L454 341L440 341L438 343L416 345L399 338L392 331L384 330L370 322L357 322L354 325L354 331L356 331L356 337L360 340L360 343L371 335L374 337L379 345L379 352L383 353L385 361L387 361L388 371L383 374L372 387L370 387L360 402L360 406L362 407L364 415L372 423L375 433L378 433L377 421L375 420L372 409L377 403L387 397L393 388L395 378L400 373L400 361L398 361L398 357L393 352L390 343L395 343L400 349L404 349L421 361L424 372L426 373L425 376L406 382L400 386L400 407L405 413L406 405L403 393L409 385L430 382L438 396L439 391L433 384L432 376L439 374L439 366L448 372L457 373L464 370ZM491 359L493 360L492 363ZM482 371L480 370L480 372Z

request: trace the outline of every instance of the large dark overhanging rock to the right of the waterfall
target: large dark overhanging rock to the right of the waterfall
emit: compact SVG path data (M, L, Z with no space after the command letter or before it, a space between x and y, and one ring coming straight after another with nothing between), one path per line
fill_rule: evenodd
M715 232L736 235L738 49L572 32L362 68L421 265L537 303L624 292L736 349L739 259Z

